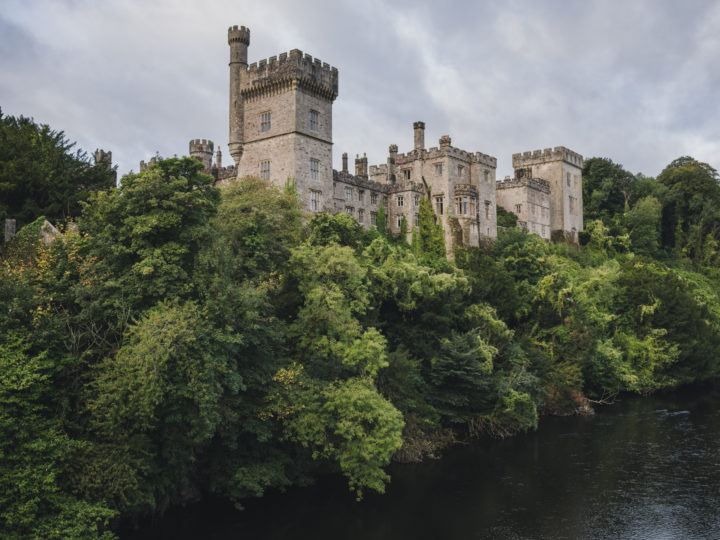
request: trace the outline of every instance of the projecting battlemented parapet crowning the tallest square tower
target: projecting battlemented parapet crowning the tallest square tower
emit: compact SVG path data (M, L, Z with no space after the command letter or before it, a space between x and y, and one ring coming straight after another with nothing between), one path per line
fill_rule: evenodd
M293 49L250 64L241 93L244 98L252 98L282 85L291 87L298 83L306 90L334 100L338 95L338 70L319 58Z

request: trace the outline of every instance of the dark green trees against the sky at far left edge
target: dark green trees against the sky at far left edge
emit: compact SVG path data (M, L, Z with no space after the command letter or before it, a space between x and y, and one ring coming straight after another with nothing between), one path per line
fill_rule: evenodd
M62 131L0 110L0 219L77 218L92 192L115 186L109 163L93 165L74 147Z

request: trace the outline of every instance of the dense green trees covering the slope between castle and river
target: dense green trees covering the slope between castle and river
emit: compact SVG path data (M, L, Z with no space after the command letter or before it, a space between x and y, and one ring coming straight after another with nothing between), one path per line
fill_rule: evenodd
M161 160L5 246L3 538L110 537L323 471L361 498L393 457L720 371L717 174L690 158L657 181L588 160L581 249L504 216L453 261L429 201L408 244L201 169Z

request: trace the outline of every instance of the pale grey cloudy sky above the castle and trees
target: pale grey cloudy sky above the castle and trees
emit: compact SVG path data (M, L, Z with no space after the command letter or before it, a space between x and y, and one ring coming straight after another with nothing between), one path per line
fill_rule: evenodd
M3 0L0 107L120 174L188 141L228 142L227 28L249 61L301 49L336 66L334 166L453 145L498 158L564 145L654 176L720 168L720 1ZM352 160L351 160L352 161Z

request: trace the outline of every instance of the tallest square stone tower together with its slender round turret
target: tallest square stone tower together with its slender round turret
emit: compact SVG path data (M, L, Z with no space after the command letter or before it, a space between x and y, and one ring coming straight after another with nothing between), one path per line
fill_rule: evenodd
M278 186L292 179L306 208L332 211L338 70L297 49L243 68L249 31L233 27L228 36L230 153L238 178L259 176Z

